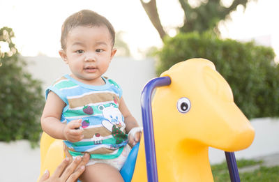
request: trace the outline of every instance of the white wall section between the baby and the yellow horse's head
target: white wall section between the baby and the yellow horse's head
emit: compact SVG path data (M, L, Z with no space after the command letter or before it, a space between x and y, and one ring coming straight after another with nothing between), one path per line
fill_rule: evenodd
M123 98L135 116L142 124L140 96L146 82L156 77L153 59L131 60L129 58L116 58L112 61L107 77L112 77L123 89Z

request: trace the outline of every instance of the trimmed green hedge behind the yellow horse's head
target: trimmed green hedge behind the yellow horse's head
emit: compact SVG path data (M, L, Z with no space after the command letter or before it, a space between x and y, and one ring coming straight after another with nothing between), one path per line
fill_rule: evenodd
M221 40L211 33L179 33L165 39L158 57L158 75L186 59L209 59L225 77L234 102L249 119L279 116L279 66L270 47Z

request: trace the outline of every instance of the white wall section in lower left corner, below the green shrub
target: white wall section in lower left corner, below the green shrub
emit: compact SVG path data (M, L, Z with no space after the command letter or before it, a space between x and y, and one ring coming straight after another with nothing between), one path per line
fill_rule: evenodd
M37 181L40 175L40 149L31 149L27 140L0 142L0 181Z

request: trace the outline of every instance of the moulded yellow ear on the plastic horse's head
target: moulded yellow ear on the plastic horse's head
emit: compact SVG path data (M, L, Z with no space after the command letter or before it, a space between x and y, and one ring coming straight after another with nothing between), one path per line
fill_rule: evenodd
M232 89L227 81L209 66L205 66L203 69L203 79L206 88L211 91L215 96L218 96L224 101L234 102Z

